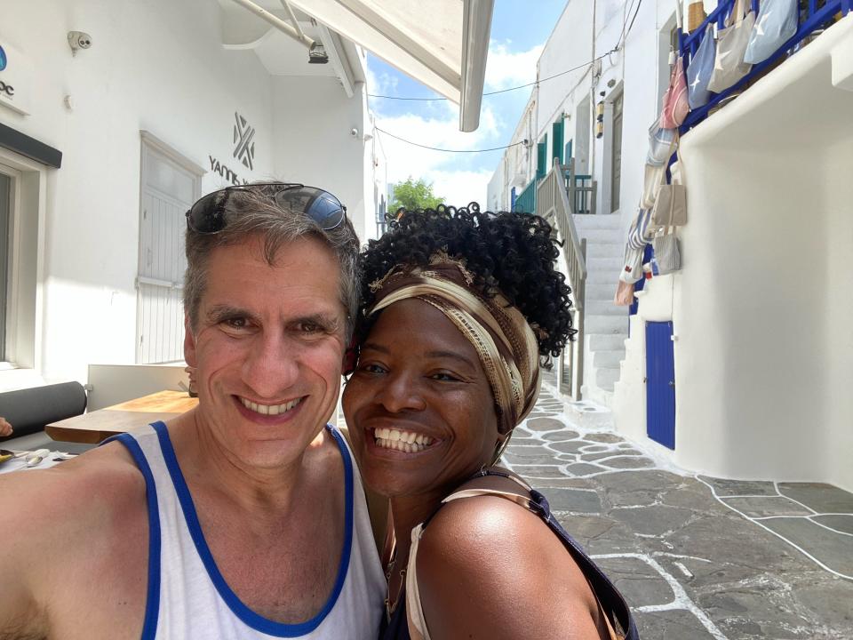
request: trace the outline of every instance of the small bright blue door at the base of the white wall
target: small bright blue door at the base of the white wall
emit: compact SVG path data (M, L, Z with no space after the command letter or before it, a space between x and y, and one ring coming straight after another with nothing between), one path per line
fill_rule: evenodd
M675 448L673 324L646 323L646 434Z

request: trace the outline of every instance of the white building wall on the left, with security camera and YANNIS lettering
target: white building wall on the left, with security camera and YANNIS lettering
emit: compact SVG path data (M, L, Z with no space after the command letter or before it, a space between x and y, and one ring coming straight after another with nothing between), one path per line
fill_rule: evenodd
M36 327L31 365L44 379L84 381L89 363L134 361L140 130L203 167L203 192L227 183L211 159L241 180L330 188L363 236L373 204L365 207L363 140L350 135L364 132L360 94L347 100L323 78L271 82L253 52L223 49L218 4L6 0L4 16L0 37L36 72L30 115L0 107L0 122L63 152L62 167L46 172L43 268L37 281L22 275L40 302L36 317L19 324ZM93 40L76 57L72 29ZM256 129L251 172L232 156L235 112Z

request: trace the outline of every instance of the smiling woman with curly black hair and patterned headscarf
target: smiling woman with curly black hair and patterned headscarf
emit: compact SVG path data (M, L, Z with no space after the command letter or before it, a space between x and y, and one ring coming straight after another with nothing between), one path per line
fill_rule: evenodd
M363 253L343 405L390 499L383 640L636 637L541 494L490 468L573 332L557 256L545 220L476 204L404 212Z

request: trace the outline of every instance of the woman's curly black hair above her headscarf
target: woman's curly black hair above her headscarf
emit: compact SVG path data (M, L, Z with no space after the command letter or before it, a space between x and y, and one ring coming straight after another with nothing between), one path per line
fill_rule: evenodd
M374 293L370 284L396 265L424 267L435 252L463 260L474 276L474 287L486 298L498 292L509 300L537 332L539 356L549 366L566 342L571 328L571 290L554 268L559 257L551 226L536 215L480 212L480 206L440 204L435 209L401 210L379 240L371 240L361 256L362 304L357 333L370 330Z

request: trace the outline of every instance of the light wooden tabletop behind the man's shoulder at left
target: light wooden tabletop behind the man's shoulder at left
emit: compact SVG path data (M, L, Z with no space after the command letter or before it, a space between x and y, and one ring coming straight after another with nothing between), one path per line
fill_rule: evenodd
M54 440L98 444L110 436L132 431L156 420L170 420L198 405L186 391L158 391L150 396L53 422L44 432Z

